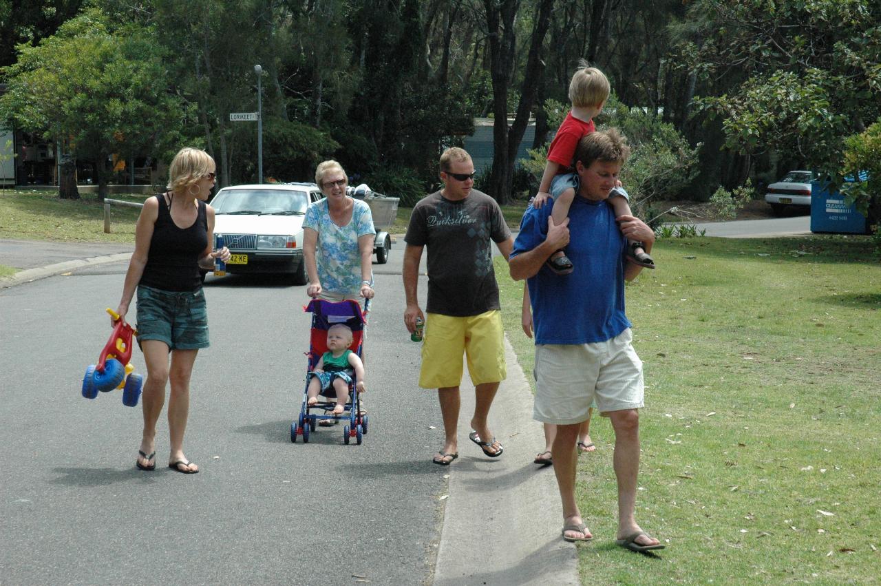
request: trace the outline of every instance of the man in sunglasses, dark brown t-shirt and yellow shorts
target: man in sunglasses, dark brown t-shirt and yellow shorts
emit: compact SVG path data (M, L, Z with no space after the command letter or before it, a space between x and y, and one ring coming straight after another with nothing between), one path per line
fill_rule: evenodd
M441 155L443 189L413 208L404 241L403 288L407 308L403 322L411 332L417 318L425 325L419 386L438 389L446 440L433 458L446 466L458 454L459 383L462 357L476 391L469 439L484 454L497 457L502 446L487 427L492 399L507 375L504 330L499 311L499 286L492 267L492 241L501 254L511 253L514 240L499 204L474 186L474 163L468 152L454 147ZM418 269L428 247L428 302L423 315L417 300Z

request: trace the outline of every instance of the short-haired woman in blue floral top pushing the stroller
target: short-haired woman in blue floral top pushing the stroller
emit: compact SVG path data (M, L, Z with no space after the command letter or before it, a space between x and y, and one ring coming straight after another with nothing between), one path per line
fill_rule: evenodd
M310 204L303 222L303 257L310 297L338 301L374 296L374 219L364 202L345 195L343 167L326 160L315 169L324 199Z

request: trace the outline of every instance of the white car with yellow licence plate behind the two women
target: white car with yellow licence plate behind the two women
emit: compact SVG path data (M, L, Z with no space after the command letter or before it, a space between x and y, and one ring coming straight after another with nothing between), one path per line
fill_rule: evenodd
M229 273L285 273L306 285L303 219L306 208L324 197L309 184L233 185L211 200L218 236L229 248Z

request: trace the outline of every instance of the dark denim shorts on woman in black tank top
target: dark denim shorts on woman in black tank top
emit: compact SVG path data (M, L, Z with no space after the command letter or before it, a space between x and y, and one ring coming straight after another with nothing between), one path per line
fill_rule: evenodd
M208 309L205 293L165 291L137 286L137 343L159 340L168 350L207 348Z

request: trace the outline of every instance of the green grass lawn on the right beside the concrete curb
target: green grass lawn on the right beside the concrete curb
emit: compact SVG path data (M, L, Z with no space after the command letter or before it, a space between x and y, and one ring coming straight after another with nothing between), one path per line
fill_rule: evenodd
M579 464L596 536L579 545L582 583L877 583L881 266L870 248L831 236L655 245L659 268L627 286L627 315L646 377L637 520L668 547L652 560L614 545L613 435L597 417L597 450ZM507 336L530 373L522 283L499 263Z

